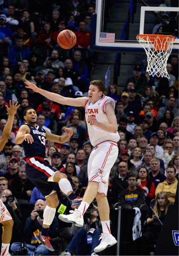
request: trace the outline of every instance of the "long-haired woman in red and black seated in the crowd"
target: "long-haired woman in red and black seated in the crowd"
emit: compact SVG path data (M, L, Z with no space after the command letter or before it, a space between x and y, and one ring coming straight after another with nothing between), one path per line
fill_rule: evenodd
M145 192L145 196L150 200L155 198L155 184L150 181L149 171L146 167L140 167L138 172L138 179L141 182L141 188Z

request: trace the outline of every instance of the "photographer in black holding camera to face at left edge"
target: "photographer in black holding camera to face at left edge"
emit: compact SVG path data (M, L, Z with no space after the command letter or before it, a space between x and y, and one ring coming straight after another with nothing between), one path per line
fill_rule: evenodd
M16 202L15 197L12 195L12 192L9 189L3 190L1 192L0 197L1 197L1 201L5 205L6 209L8 210L9 214L11 215L11 218L14 221L11 243L19 241L20 226L21 226L21 223L22 223L21 222L22 216L20 214L19 205ZM3 219L3 221L4 221L4 219ZM3 225L4 225L4 223L3 223Z

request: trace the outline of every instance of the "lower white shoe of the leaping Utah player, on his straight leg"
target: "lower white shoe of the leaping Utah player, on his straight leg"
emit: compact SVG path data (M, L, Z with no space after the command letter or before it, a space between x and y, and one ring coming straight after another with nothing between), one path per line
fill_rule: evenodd
M101 242L98 246L95 247L94 252L101 252L105 250L107 247L110 247L117 243L115 237L113 237L112 234L102 233L100 239Z

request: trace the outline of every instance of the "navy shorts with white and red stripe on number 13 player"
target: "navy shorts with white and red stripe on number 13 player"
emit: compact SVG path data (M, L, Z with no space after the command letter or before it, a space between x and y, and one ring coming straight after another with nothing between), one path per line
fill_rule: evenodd
M43 196L48 196L55 191L60 191L57 182L48 181L48 178L56 171L58 171L56 168L50 166L48 163L44 163L42 157L26 158L26 175Z

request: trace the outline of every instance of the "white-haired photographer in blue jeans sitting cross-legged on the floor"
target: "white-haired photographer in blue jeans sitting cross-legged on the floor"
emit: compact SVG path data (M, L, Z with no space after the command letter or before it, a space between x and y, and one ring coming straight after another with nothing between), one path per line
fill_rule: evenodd
M45 209L45 202L39 199L35 202L34 210L31 216L26 220L23 241L24 247L21 247L21 243L13 243L11 245L11 251L16 255L49 255L49 250L36 240L34 233L41 231L43 225L43 211ZM58 220L54 217L52 224L49 228L49 236L51 238L57 237L58 234Z

